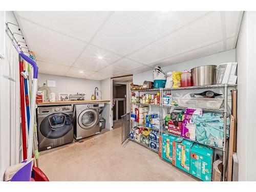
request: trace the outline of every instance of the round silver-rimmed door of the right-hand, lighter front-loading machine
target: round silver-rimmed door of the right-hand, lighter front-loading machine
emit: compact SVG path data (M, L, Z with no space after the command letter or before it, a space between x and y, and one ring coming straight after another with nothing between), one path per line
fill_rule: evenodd
M92 129L99 121L99 113L93 109L86 109L80 113L78 117L78 124L83 129Z

